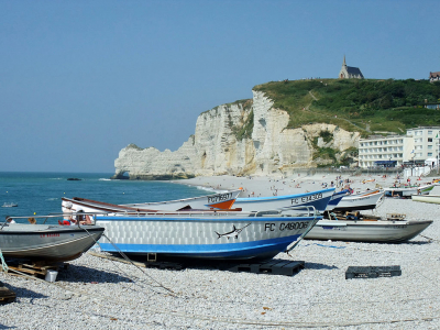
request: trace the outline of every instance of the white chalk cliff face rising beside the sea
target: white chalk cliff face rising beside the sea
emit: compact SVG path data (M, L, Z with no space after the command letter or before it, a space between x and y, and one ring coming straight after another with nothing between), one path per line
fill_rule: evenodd
M253 99L222 105L201 113L196 132L177 151L160 152L130 144L114 161L114 178L188 178L215 175L289 175L297 167L330 164L318 148L332 148L336 157L359 146L360 134L333 124L311 123L288 129L289 114L273 108L261 91ZM327 135L322 135L326 132ZM327 138L322 138L327 136Z

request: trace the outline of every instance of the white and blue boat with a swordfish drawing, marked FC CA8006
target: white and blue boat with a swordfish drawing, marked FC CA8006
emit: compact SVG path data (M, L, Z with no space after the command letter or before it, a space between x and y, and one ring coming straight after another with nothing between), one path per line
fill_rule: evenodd
M318 219L322 217L319 216ZM316 217L97 217L107 252L208 260L271 258L295 242Z

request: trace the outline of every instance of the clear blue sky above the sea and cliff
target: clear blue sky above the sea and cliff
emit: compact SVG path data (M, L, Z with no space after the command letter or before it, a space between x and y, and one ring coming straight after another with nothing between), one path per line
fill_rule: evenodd
M113 173L255 85L440 70L440 1L0 0L0 172Z

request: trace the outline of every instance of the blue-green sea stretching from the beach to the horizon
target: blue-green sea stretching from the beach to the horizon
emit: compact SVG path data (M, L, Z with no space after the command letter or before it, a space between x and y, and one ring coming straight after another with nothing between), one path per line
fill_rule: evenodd
M62 198L81 197L110 204L163 201L213 194L204 187L170 182L110 179L112 173L0 172L0 222L6 217L62 212ZM77 178L78 180L68 180ZM4 204L18 207L2 207ZM41 222L42 219L37 219ZM16 222L26 223L26 219ZM57 220L47 219L46 223Z

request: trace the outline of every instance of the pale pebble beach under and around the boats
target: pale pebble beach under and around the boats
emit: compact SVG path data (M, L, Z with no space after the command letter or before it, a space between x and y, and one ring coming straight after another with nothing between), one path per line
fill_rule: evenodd
M425 183L411 177L411 183ZM242 196L388 187L388 176L197 177L180 184ZM402 183L406 178L402 178ZM337 184L338 183L338 184ZM436 186L432 195L440 195ZM0 329L440 329L440 205L387 198L373 211L435 220L400 244L302 240L289 255L294 276L232 273L210 264L182 271L141 268L86 253L54 283L0 273L14 302L0 306ZM95 251L97 252L97 251ZM399 265L400 276L345 279L349 266Z

